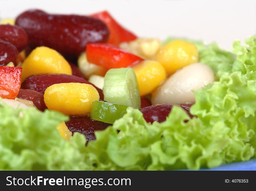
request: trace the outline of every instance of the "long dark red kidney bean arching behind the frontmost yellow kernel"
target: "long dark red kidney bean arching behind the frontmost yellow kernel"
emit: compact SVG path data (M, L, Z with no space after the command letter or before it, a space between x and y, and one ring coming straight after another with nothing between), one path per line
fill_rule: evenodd
M24 80L24 82L21 84L21 88L23 89L29 89L29 90L35 90L42 94L45 93L46 88L53 84L57 83L87 83L90 85L93 85L92 83L88 82L87 80L83 78L79 78L74 75L67 75L67 74L38 74L38 75L32 75L29 76ZM100 99L104 99L103 91L99 88L97 88L95 85L93 85L96 90L99 92Z

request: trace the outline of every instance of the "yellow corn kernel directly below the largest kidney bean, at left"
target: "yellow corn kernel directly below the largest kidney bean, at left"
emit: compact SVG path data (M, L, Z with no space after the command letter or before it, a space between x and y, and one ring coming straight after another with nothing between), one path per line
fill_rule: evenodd
M22 64L22 81L34 74L58 73L72 75L72 70L65 58L56 50L37 47Z

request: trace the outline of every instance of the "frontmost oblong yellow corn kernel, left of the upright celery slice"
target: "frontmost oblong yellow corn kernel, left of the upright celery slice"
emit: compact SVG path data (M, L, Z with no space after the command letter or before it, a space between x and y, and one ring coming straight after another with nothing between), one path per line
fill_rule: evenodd
M54 84L44 94L45 105L49 110L66 115L87 115L96 100L99 100L98 91L86 83Z

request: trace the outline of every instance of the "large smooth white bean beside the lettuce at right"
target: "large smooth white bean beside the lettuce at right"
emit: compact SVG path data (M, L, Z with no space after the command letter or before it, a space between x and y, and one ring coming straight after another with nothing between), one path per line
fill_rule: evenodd
M214 72L209 66L201 63L188 65L175 72L154 92L152 104L193 104L195 95L191 90L213 82Z

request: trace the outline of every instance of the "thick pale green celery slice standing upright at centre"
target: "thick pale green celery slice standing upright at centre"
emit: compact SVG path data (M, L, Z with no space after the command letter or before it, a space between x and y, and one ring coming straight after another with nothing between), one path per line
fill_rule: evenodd
M141 107L141 97L135 72L132 68L108 70L104 78L104 100L133 108Z

